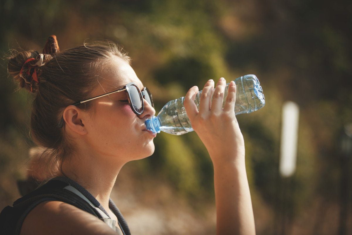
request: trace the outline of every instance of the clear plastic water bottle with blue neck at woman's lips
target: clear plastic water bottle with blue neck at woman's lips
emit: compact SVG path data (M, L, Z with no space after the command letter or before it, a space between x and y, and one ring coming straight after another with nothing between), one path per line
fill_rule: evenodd
M241 76L235 79L234 82L237 86L235 115L251 113L261 109L265 105L263 90L259 85L259 80L256 75L250 74ZM224 102L222 103L223 108L225 106L229 84L230 83L226 84ZM201 93L202 91L198 92L194 100L198 110ZM154 133L164 131L173 135L183 135L193 131L186 110L184 109L183 101L184 97L170 100L165 104L157 117L153 116L146 120L145 125L147 129Z

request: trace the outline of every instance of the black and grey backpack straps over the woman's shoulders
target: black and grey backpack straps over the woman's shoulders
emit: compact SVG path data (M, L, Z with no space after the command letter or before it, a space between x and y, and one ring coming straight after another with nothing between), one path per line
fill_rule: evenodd
M116 221L111 219L106 210L85 188L66 177L56 177L41 185L33 192L19 198L13 206L7 206L0 214L0 232L19 234L24 219L38 204L45 201L61 201L71 204L92 214L115 230ZM124 235L130 235L125 219L116 205L109 200L109 207L118 217L118 223Z

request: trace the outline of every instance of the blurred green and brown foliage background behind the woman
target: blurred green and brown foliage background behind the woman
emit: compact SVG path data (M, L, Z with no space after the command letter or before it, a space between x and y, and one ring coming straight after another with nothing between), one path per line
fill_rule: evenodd
M163 105L213 78L257 75L266 105L237 116L257 234L352 234L352 2L347 0L0 1L0 52L110 39ZM0 62L0 210L26 177L30 104ZM296 170L279 172L285 101L300 109ZM215 234L213 169L190 132L158 134L122 168L112 198L132 234Z

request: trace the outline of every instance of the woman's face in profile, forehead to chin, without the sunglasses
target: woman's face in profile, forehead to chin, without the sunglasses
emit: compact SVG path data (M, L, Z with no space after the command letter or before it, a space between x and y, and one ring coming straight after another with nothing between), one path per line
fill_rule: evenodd
M100 85L92 97L114 91L129 82L144 88L132 67L121 58L114 56L111 67L100 75ZM144 112L136 115L128 103L125 91L93 100L92 114L88 118L87 138L89 145L97 154L114 157L127 162L142 159L154 152L153 136L146 131L145 120L155 115L155 109L144 101Z

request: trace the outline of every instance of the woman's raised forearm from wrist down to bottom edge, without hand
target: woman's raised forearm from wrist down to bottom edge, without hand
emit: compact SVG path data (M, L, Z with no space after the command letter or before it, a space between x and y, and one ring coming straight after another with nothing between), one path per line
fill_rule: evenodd
M254 216L243 160L214 163L216 234L255 234Z

